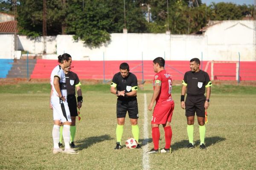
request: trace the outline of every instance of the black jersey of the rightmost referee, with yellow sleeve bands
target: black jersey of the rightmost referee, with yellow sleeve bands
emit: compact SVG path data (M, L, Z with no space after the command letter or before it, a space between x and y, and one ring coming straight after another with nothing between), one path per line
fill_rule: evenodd
M212 86L212 82L207 72L199 70L198 72L187 71L182 82L187 86L187 94L201 96L205 93L205 88Z

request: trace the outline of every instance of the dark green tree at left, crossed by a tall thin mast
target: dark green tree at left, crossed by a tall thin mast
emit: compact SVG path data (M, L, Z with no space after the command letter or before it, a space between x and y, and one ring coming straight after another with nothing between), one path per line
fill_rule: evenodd
M67 9L64 0L47 0L47 35L64 34ZM19 0L17 6L20 34L38 37L43 31L43 1Z

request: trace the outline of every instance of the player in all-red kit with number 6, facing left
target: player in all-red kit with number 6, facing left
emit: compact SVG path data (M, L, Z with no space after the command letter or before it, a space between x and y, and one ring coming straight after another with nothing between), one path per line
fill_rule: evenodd
M164 69L165 60L162 57L157 57L153 60L154 72L154 93L148 110L152 111L154 101L153 116L151 120L152 139L154 148L148 153L171 153L172 128L170 122L174 110L174 101L172 99L172 78ZM165 132L166 145L162 150L159 150L160 131L159 125L162 124Z

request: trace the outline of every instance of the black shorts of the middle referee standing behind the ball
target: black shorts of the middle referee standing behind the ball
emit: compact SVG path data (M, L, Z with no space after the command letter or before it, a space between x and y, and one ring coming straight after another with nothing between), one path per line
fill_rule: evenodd
M126 116L127 111L130 119L139 118L137 98L130 99L130 100L123 100L123 101L117 99L116 117L124 118Z

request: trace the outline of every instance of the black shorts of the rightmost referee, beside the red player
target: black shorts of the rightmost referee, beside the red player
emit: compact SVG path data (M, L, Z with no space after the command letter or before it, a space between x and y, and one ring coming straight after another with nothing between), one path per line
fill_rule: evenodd
M185 110L186 110L186 116L195 116L195 113L198 117L205 117L205 96L192 96L187 95L186 101L185 101Z

